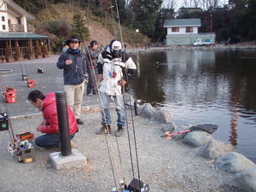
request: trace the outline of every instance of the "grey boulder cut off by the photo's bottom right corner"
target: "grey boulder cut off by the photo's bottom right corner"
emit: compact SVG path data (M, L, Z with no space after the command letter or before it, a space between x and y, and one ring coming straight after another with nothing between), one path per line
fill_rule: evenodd
M235 181L248 192L256 191L256 168L236 173Z

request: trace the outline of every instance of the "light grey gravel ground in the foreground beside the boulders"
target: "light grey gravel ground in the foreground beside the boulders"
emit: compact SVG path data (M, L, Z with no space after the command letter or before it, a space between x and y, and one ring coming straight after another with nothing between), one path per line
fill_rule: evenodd
M127 111L130 113L130 111ZM116 114L112 112L113 119ZM129 116L129 114L128 114ZM35 149L36 161L30 164L19 163L6 150L9 143L8 131L0 132L1 164L0 191L14 192L54 192L54 191L111 191L114 186L113 172L108 156L108 146L115 175L125 177L126 183L132 179L131 158L129 153L128 134L123 137L109 135L96 136L95 131L100 128L101 116L99 112L83 113L84 125L79 126L79 133L74 137L79 151L88 160L88 165L73 170L56 171L49 160L49 154L56 149ZM137 161L134 150L134 139L131 117L128 117L129 135L134 165L134 175L137 177ZM42 120L42 116L12 119L15 133L32 131L36 136L41 133L35 127ZM115 121L114 121L115 122ZM209 162L197 155L197 150L179 141L166 140L160 137L161 126L149 122L142 117L134 118L136 130L137 155L141 180L149 184L151 192L207 192L223 191L238 192L241 189L232 186L234 175L214 169ZM113 125L116 128L116 125ZM119 143L121 164L117 153ZM122 168L121 168L122 167Z

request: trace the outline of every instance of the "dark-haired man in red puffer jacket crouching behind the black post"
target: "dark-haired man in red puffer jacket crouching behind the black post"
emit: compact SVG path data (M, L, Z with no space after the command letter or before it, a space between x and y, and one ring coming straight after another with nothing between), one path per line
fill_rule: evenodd
M40 90L32 90L27 100L32 103L35 108L42 111L44 120L38 125L37 131L45 133L35 139L35 143L42 148L57 148L60 146L59 126L56 109L55 93L50 92L45 96ZM78 131L77 121L72 109L67 106L68 124L70 139L73 139Z

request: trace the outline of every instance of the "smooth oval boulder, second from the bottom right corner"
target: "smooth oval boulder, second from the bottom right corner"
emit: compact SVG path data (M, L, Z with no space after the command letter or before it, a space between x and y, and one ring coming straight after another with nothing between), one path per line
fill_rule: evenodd
M243 172L256 167L252 160L236 152L229 152L218 157L215 166L230 173Z

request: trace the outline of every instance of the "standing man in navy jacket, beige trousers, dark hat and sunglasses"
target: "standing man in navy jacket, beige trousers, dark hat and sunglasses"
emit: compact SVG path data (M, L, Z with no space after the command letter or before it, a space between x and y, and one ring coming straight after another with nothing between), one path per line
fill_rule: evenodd
M69 48L59 57L57 67L63 69L67 104L73 109L77 123L84 125L80 115L84 95L84 82L88 79L86 58L84 52L79 49L81 41L78 37L71 36L66 43Z

